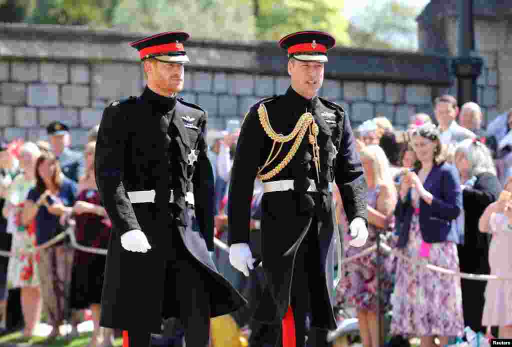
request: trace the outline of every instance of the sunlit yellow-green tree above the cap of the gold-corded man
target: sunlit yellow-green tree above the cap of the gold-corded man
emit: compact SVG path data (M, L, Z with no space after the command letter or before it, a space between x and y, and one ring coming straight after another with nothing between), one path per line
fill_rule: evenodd
M259 39L278 40L300 30L323 30L350 44L343 0L252 0Z

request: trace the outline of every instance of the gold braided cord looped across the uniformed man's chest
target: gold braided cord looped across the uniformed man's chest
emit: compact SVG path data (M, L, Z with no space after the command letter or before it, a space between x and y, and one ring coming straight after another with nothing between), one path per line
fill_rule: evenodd
M304 138L304 135L306 135L306 131L310 127L310 125L313 125L313 129L315 128L316 124L314 123L313 115L309 112L304 113L301 118L297 121L297 124L295 125L295 128L293 131L287 135L281 135L277 134L272 127L270 126L270 120L268 119L268 113L263 104L260 105L258 108L258 115L260 116L260 123L263 129L265 130L265 133L273 140L272 144L272 150L270 151L270 154L268 155L267 161L265 162L265 165L258 170L257 177L264 181L267 179L270 179L280 173L291 161L293 156L298 150L298 147L301 145L302 139ZM311 130L310 130L311 132ZM316 136L315 136L316 137ZM291 141L293 138L295 138L295 141L293 142L293 145L290 149L290 151L286 154L285 158L272 170L267 172L266 174L261 174L263 169L267 167L281 152L281 149L283 148L284 142ZM315 138L316 140L316 138ZM276 142L281 143L281 147L279 148L278 152L272 157L272 153L274 152L275 144ZM315 141L316 142L316 141Z

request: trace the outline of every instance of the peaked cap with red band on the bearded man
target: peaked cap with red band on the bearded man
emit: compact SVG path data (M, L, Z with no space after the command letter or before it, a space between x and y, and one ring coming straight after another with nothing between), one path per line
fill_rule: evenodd
M183 47L189 34L182 31L168 31L144 37L130 44L139 51L142 60L155 58L163 63L188 63L187 54Z

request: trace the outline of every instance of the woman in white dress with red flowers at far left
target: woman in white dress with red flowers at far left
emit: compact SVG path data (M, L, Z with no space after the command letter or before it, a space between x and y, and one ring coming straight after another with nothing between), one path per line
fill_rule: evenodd
M21 288L22 310L25 319L24 336L31 337L41 316L41 294L37 272L38 254L27 253L35 246L35 223L28 227L20 221L23 202L29 190L35 185L35 163L41 152L32 142L26 142L20 149L19 164L23 174L14 178L7 193L4 216L7 230L12 233L11 252L16 256L9 259L7 285L9 289Z

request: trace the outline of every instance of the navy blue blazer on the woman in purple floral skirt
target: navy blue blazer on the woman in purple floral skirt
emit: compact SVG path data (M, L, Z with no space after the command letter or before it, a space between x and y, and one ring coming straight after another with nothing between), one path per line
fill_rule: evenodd
M418 173L418 170L414 170ZM425 242L454 241L461 243L463 235L457 229L455 219L462 210L462 191L457 169L450 164L434 165L426 177L423 187L432 196L432 205L419 201L419 224ZM404 201L398 199L395 209L397 247L404 248L409 242L409 229L414 214L411 190Z

